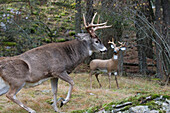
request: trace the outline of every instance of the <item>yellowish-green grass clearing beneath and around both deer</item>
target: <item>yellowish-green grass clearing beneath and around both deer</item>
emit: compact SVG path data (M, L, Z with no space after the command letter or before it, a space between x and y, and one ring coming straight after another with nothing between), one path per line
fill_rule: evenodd
M143 78L118 77L119 87L117 89L114 77L111 81L111 89L109 89L108 76L99 76L102 88L93 76L93 88L90 88L89 75L87 73L71 74L74 82L74 89L71 100L59 110L61 112L70 112L72 110L87 109L94 106L102 106L105 103L120 101L126 97L141 94L166 94L170 95L169 86L160 86L155 81L148 81ZM66 97L69 85L59 80L58 98ZM50 82L22 89L17 97L27 106L36 110L38 113L55 113L49 104L52 100L52 92ZM0 97L0 113L27 113L15 103L9 101L5 95Z

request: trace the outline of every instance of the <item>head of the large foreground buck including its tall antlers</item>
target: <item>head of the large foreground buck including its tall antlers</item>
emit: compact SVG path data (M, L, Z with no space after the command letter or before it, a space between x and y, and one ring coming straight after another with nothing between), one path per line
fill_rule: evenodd
M100 23L99 24L99 18L98 18L98 22L97 24L94 24L94 19L96 17L97 13L94 14L92 21L90 24L86 23L86 19L85 19L85 15L83 14L83 21L84 21L84 26L88 32L87 33L79 33L78 36L79 37L83 37L85 40L88 40L88 42L90 43L90 50L92 52L105 52L107 51L106 47L101 43L100 39L98 38L98 36L96 35L95 31L98 29L104 29L104 28L109 28L111 26L106 26L107 22L104 23Z

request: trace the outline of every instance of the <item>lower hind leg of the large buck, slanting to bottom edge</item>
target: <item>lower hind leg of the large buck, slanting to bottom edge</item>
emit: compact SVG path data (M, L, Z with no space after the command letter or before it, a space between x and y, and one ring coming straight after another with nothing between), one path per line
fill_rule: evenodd
M8 93L6 94L6 97L8 99L10 99L11 101L13 101L14 103L18 104L20 107L24 108L26 111L28 111L29 113L36 113L34 110L32 110L31 108L27 107L26 105L24 105L21 101L19 101L16 98L16 94L21 90L21 88L25 85L22 84L21 86L17 87L17 86L10 86L10 89L8 91Z

